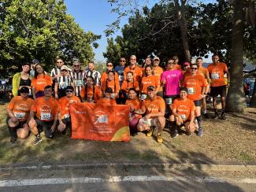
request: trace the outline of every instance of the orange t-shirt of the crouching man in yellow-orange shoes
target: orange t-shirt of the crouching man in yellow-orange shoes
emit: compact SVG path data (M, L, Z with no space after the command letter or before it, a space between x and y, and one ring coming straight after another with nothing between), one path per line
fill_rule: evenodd
M165 111L165 100L160 96L155 96L153 101L150 98L143 100L142 105L146 108L146 114L158 113L162 109Z

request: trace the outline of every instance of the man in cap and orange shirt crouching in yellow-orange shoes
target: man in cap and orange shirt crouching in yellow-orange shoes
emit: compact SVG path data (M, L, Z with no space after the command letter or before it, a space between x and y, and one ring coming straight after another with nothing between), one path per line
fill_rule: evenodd
M132 109L133 113L143 115L137 125L138 131L147 130L147 136L151 137L154 131L154 127L158 128L157 141L163 142L161 138L161 132L165 127L165 100L156 95L156 88L154 86L147 87L148 98L143 100L140 109Z

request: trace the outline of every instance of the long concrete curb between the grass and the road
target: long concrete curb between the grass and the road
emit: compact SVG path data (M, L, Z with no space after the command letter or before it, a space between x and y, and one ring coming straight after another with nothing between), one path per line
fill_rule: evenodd
M32 166L9 166L0 168L1 171L7 170L33 170L33 169L90 169L90 168L162 168L172 169L190 169L194 171L220 171L220 172L256 172L256 165L224 165L224 164L58 164L58 165L32 165Z

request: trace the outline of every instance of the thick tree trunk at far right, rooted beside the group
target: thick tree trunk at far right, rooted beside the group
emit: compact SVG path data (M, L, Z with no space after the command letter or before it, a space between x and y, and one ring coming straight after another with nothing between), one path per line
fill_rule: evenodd
M226 102L228 111L243 113L247 102L243 90L243 34L245 1L233 1L233 29L230 68L230 87Z

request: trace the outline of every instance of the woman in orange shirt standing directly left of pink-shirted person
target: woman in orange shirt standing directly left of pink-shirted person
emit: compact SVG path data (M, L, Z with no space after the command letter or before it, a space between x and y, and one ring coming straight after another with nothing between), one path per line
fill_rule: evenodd
M143 76L140 84L140 93L141 100L147 98L147 87L154 86L156 87L155 92L158 93L158 89L160 87L160 79L157 76L152 75L153 67L151 65L145 66L146 76Z

